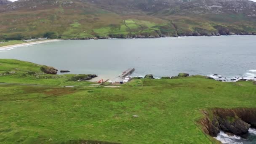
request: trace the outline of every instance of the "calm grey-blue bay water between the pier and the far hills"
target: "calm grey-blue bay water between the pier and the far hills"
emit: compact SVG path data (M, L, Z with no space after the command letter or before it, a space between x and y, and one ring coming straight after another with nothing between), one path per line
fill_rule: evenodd
M134 67L133 76L187 72L255 77L256 36L62 40L0 49L0 58L31 61L74 74L117 76Z

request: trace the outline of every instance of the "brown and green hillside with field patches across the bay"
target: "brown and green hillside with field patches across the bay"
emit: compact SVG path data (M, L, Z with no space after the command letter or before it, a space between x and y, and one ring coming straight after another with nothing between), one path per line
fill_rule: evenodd
M249 0L19 0L0 17L1 40L256 35Z

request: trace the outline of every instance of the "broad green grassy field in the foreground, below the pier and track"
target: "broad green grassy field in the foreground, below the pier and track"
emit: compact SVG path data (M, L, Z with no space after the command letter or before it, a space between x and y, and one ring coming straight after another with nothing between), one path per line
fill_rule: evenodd
M38 69L14 60L0 63L5 65L3 69L21 65L24 67L20 69ZM18 77L5 76L8 78L19 81ZM30 77L25 79L30 81ZM201 76L133 80L121 88L0 85L0 93L0 143L85 139L125 144L211 144L217 141L205 136L197 125L202 117L200 109L255 107L256 103L252 82L221 83Z

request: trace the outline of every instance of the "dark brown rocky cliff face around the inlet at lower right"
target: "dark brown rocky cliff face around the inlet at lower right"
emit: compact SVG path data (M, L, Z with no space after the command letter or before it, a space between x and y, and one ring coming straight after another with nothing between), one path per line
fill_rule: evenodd
M203 114L205 117L200 121L203 131L213 137L220 131L242 135L248 133L251 126L256 127L256 108L217 108Z

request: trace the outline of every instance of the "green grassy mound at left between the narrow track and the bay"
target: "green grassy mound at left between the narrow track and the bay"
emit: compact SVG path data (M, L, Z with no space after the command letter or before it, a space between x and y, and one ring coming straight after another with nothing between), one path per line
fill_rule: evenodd
M47 75L44 74L40 67L42 65L30 62L18 61L14 59L0 59L0 74L6 72L16 72L7 76L0 76L0 83L21 83L35 85L88 85L91 82L69 81L71 77L76 75Z

